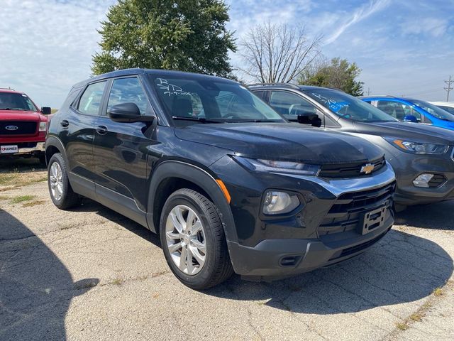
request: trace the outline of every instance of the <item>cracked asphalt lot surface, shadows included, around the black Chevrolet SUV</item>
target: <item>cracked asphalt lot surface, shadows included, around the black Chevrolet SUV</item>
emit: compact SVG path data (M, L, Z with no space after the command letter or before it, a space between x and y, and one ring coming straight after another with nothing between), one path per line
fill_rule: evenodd
M58 210L41 180L0 188L0 340L454 340L453 256L451 201L343 264L198 292L147 229L91 200Z

